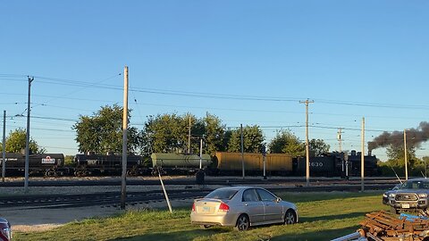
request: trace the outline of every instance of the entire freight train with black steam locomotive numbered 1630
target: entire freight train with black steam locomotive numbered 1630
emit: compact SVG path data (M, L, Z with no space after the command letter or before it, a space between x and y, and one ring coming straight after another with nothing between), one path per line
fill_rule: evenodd
M25 170L25 155L6 153L6 176L18 176ZM289 154L253 154L216 152L203 154L151 154L150 164L140 155L128 155L127 175L193 174L199 169L208 175L305 176L306 157L294 158ZM365 176L377 176L377 159L368 154L364 158ZM3 165L3 158L0 157ZM331 153L309 158L311 176L346 177L360 176L361 154L352 151ZM100 176L121 175L122 155L76 154L71 165L64 164L63 154L30 154L29 174L42 176Z

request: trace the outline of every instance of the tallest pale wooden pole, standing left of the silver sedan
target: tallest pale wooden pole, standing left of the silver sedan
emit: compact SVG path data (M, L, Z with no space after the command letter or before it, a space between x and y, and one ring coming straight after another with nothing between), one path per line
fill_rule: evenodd
M122 182L121 209L125 209L127 197L127 130L128 130L128 66L123 69L123 112L122 112Z

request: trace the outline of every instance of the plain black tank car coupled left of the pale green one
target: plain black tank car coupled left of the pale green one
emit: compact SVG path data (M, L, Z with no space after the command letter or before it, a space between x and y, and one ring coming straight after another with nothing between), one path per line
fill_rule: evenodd
M90 175L120 175L122 172L122 154L76 154L74 156L77 177ZM142 166L140 155L127 156L127 175L145 174L147 169Z

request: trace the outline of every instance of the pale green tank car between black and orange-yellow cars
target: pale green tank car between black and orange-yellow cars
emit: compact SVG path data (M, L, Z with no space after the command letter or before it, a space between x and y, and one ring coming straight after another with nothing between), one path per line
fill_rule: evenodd
M151 154L152 174L157 171L169 174L195 173L200 168L206 169L212 160L209 154Z

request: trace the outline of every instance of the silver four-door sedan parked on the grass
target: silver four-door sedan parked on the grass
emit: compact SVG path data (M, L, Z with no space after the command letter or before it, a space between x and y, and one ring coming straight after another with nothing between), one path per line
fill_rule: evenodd
M192 224L209 228L214 225L247 230L250 226L298 222L295 204L261 187L222 187L196 199L190 212Z

